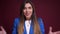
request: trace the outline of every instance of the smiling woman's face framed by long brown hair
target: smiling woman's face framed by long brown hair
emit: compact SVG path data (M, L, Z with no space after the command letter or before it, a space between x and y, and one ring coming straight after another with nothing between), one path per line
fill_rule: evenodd
M24 16L26 19L30 19L32 16L33 8L30 3L26 3L23 9Z

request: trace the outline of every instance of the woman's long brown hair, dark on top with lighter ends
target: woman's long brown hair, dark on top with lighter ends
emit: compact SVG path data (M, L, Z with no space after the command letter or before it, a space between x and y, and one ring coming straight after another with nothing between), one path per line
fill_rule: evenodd
M33 24L34 24L33 25L34 26L34 34L41 34L41 30L40 30L40 27L39 27L39 24L37 21L37 17L35 15L35 8L30 0L26 0L20 8L20 24L18 25L18 34L23 34L23 31L24 31L24 20L26 20L26 18L23 14L23 9L24 9L26 3L30 3L33 8L31 20L33 21Z

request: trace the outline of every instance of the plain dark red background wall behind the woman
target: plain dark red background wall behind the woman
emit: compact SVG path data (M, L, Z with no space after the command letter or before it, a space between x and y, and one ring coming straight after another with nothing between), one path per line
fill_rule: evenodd
M12 32L14 18L19 17L19 7L23 0L0 0L0 26L3 26L8 34ZM60 2L59 0L32 0L35 5L37 17L44 21L45 33L49 27L53 32L60 30Z

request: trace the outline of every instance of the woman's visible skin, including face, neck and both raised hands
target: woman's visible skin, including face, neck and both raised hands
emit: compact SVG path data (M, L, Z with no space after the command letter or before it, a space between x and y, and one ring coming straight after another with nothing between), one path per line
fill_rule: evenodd
M33 8L30 3L25 4L25 8L23 9L24 16L26 17L26 20L30 20L31 15L33 12ZM4 30L4 28L1 26L0 34L7 34L7 32ZM49 27L49 33L48 34L60 34L60 31L52 32L52 27Z

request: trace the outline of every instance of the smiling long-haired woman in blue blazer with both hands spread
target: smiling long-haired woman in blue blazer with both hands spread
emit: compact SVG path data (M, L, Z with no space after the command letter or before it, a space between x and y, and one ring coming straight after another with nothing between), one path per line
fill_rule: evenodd
M12 34L45 34L43 21L35 15L35 8L31 1L26 0L20 9L20 18L15 18ZM6 34L3 27L0 33ZM52 32L50 27L49 34L57 34Z

